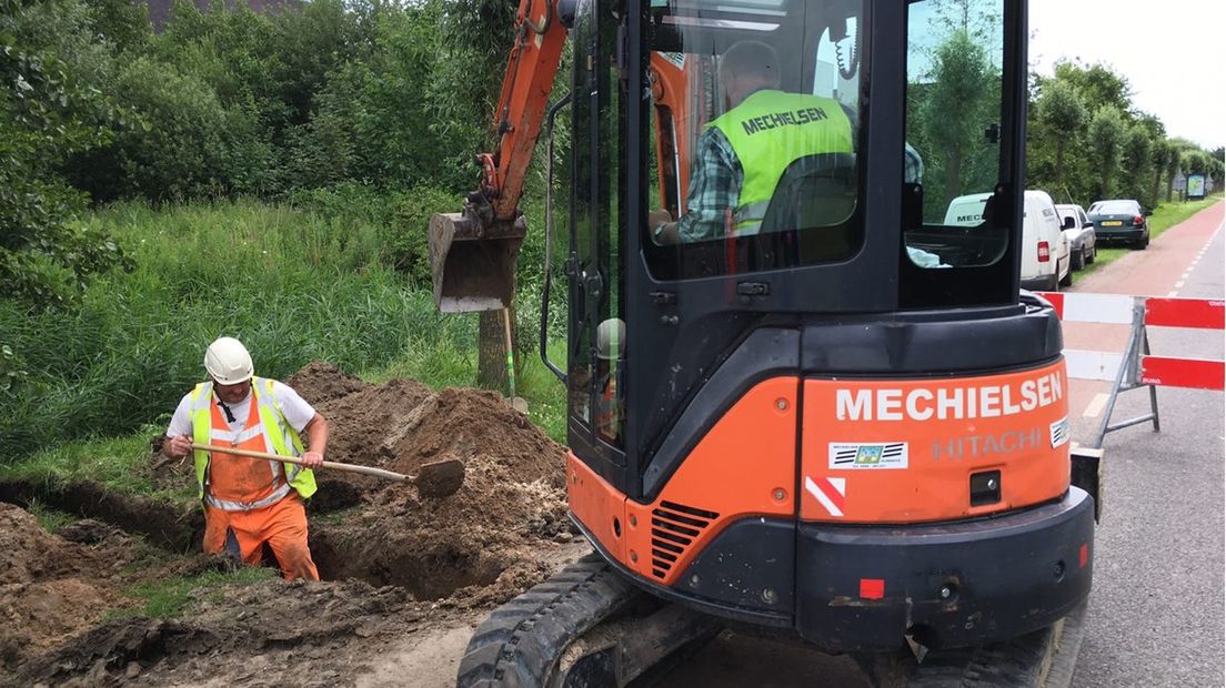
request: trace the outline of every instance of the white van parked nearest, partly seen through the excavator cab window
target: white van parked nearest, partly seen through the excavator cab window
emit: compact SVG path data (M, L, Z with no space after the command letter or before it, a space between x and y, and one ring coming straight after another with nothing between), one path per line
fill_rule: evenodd
M945 211L948 226L977 226L992 193L959 196ZM1060 230L1056 203L1046 191L1026 191L1021 220L1021 288L1058 291L1073 284L1069 241Z

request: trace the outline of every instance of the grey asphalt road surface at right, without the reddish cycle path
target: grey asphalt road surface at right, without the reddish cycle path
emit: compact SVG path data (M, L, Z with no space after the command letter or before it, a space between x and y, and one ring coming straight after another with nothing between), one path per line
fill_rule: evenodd
M1171 277L1179 297L1224 295L1222 206L1206 212L1219 226L1190 274ZM1154 328L1150 337L1155 354L1224 357L1221 332ZM1149 394L1137 389L1121 395L1113 417L1148 410ZM1159 388L1159 415L1161 432L1135 426L1103 442L1105 512L1078 687L1224 684L1222 393ZM1096 420L1081 415L1074 437L1091 436Z

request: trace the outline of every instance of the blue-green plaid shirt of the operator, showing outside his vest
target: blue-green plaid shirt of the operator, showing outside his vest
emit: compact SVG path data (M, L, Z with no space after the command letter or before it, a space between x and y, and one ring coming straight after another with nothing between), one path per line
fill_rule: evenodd
M848 113L848 119L856 121ZM852 125L852 137L856 135ZM683 244L707 241L725 236L725 226L732 223L737 209L745 173L732 151L728 137L716 127L707 127L698 137L698 149L690 165L689 192L685 195L685 214L677 220L677 234ZM923 159L906 143L904 149L904 181L921 184Z

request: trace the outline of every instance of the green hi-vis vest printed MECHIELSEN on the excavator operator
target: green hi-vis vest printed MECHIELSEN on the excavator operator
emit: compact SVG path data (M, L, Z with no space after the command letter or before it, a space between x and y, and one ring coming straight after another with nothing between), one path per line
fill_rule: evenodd
M807 155L852 153L851 120L832 98L759 91L707 126L718 129L741 160L744 184L733 234L758 234L783 170Z

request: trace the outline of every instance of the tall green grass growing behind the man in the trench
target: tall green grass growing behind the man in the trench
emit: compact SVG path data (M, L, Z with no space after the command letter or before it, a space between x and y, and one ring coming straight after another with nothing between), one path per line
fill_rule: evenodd
M476 351L473 316L439 315L424 285L383 266L378 224L256 202L125 204L94 222L134 272L102 277L71 311L0 300L0 333L31 380L0 409L0 463L164 422L219 335L277 378L319 359L354 373L407 361L428 384L459 383L444 373Z

